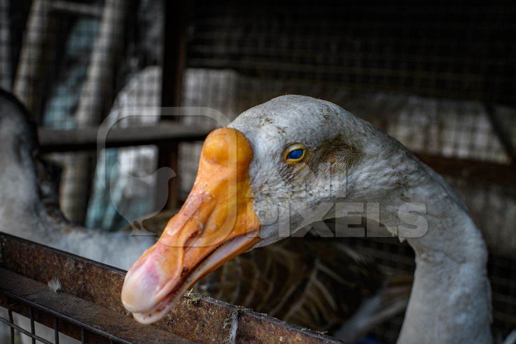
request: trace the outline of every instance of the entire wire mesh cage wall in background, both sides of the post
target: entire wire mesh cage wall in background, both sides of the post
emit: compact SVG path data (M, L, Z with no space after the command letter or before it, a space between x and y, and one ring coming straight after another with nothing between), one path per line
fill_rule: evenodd
M217 110L220 125L272 97L304 94L341 105L415 153L488 163L488 182L456 171L445 177L496 248L489 259L495 335L516 327L516 189L496 173L516 156L516 6L198 0L171 7L161 0L0 0L0 85L41 127L55 129L105 120L152 125L163 119L160 105L179 104ZM167 38L178 18L183 31ZM179 72L167 59L178 39ZM217 126L201 116L179 122ZM178 145L180 200L195 180L201 146ZM162 151L49 152L62 167L61 208L74 222L105 230L156 210L144 202L155 198L156 179L140 185L127 176L163 166ZM114 183L107 191L99 183L106 178ZM397 239L350 242L390 275L413 272L413 252ZM374 334L392 342L401 322L398 316Z

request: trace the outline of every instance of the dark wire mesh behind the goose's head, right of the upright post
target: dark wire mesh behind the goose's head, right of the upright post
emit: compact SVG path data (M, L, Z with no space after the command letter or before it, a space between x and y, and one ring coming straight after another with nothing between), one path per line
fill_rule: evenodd
M234 118L281 94L307 94L343 106L414 152L510 164L514 11L197 2L187 37L183 104L215 107ZM181 167L194 171L200 146L184 145ZM503 249L503 242L514 244L514 190L456 176L448 181L479 226L496 228L486 232L499 248L489 271L494 330L503 337L516 325L514 271L506 270L514 260ZM183 192L192 183L184 183ZM390 273L414 269L413 252L397 239L353 240ZM392 342L401 322L399 316L375 332Z

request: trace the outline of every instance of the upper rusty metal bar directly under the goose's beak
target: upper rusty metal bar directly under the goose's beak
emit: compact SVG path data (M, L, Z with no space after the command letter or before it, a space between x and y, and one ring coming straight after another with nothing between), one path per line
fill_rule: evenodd
M29 305L43 307L46 313L60 319L66 317L65 322L59 323L59 329L70 333L73 331L67 331L67 323L75 325L72 337L79 340L82 333L78 327L86 327L89 334L98 334L102 329L106 333L117 334L117 338L127 340L130 337L134 342L146 342L143 338L149 338L150 334L154 339L147 342L171 336L175 341L164 342L223 342L232 333L236 334L238 341L340 342L195 293L181 298L163 320L153 325L141 325L127 314L120 302L125 271L3 233L0 233L0 252L0 267L6 269L0 271L2 276L6 276L0 279L0 294L19 301L23 301L20 300L22 298ZM46 286L55 278L59 279L62 292L54 293ZM2 298L0 305L8 307ZM53 327L52 318L45 322L38 312L35 313L36 321ZM227 326L235 314L238 315L236 328ZM92 342L91 338L88 339Z

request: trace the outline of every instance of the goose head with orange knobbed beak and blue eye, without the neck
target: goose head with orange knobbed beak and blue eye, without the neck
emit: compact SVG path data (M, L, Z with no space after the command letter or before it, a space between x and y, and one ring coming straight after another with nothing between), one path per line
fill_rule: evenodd
M392 145L400 146L312 97L285 95L241 113L206 138L181 211L125 277L123 305L154 322L225 261L338 216L337 200L385 198L407 169L406 150Z

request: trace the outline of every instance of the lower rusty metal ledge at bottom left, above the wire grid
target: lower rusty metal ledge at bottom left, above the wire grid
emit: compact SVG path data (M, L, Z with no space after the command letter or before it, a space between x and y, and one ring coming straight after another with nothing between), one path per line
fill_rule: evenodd
M30 332L20 330L33 339L52 344L36 336L34 322L57 329L57 319L65 321L67 326L61 329L62 333L80 339L80 329L95 334L90 336L89 342L102 343L114 340L122 343L141 342L188 342L169 332L158 330L155 327L134 323L130 317L113 310L95 305L91 302L72 296L65 292L54 292L45 284L28 279L12 271L0 268L3 279L0 281L0 293L10 300L18 302L15 312L26 315L20 307L29 306ZM5 322L5 321L4 321ZM56 326L57 324L57 326ZM56 343L58 333L55 332ZM158 339L156 339L158 338Z

